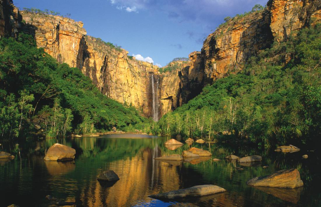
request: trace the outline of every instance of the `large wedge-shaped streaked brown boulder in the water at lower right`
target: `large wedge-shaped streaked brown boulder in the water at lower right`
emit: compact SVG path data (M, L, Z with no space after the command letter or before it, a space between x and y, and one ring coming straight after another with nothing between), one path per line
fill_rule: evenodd
M281 170L271 175L263 177L255 177L248 180L247 185L250 186L266 186L266 187L288 187L295 188L303 186L300 179L300 173L297 169Z

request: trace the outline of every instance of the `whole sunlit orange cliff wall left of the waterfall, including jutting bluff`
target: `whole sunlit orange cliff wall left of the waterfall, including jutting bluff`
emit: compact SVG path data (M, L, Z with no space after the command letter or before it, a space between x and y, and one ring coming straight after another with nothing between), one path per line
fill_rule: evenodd
M79 68L109 98L152 116L152 74L155 92L160 97L158 67L135 60L128 52L99 38L86 36L81 21L48 14L21 12L22 30L35 36L45 52Z

